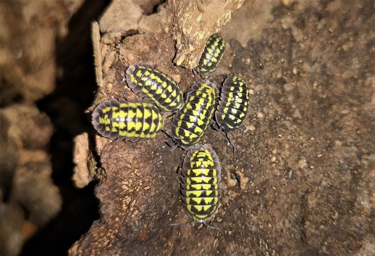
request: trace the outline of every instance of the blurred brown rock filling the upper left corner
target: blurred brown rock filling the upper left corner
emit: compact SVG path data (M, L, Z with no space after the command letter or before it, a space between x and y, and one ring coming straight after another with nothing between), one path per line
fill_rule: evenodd
M56 36L83 0L0 2L0 105L32 102L55 88Z

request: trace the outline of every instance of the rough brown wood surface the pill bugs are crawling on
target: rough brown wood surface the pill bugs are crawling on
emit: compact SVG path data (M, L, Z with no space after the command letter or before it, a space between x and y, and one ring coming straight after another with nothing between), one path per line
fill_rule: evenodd
M144 17L155 27L102 45L112 60L102 99L135 97L121 81L139 61L178 75L184 91L199 79L172 65L166 17L159 6ZM223 27L226 52L210 78L220 84L234 72L248 81L249 113L230 134L237 154L211 128L201 141L221 160L222 204L210 224L225 234L170 225L189 218L176 173L185 151L166 146L166 134L140 143L97 137L107 174L95 190L101 219L70 255L375 254L374 26L371 0L245 1Z

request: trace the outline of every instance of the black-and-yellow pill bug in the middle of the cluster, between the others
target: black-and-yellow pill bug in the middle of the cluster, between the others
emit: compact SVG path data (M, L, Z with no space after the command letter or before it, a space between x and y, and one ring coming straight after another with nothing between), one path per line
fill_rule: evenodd
M212 119L218 91L208 80L194 83L186 93L185 104L173 117L171 137L182 148L198 143Z

